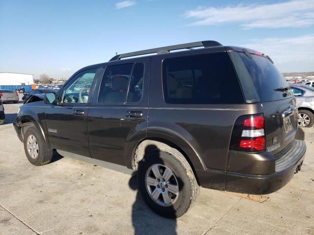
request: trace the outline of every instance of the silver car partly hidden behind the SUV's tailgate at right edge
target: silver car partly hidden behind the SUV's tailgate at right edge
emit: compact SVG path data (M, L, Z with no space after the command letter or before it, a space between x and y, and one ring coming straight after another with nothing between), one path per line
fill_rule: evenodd
M291 84L298 106L298 125L312 127L314 125L314 87Z

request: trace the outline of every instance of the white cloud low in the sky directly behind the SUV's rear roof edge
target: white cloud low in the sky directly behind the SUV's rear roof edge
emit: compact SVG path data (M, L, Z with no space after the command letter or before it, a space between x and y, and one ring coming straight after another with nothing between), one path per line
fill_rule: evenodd
M314 34L300 37L261 38L251 41L241 47L269 55L281 72L314 71Z

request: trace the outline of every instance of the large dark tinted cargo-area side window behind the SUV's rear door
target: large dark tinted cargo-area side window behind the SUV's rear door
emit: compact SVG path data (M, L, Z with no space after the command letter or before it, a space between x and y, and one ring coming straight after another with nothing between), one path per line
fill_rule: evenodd
M244 103L227 53L168 58L162 68L167 103Z

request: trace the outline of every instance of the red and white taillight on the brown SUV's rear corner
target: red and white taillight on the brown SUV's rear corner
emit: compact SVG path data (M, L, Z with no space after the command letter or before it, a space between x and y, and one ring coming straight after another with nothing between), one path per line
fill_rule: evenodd
M244 115L236 119L230 150L257 152L265 150L265 119L263 114Z

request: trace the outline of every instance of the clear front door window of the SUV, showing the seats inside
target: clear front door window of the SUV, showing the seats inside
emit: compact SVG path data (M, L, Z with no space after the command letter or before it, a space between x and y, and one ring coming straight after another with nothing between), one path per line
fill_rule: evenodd
M78 73L63 89L60 103L87 103L97 69Z

